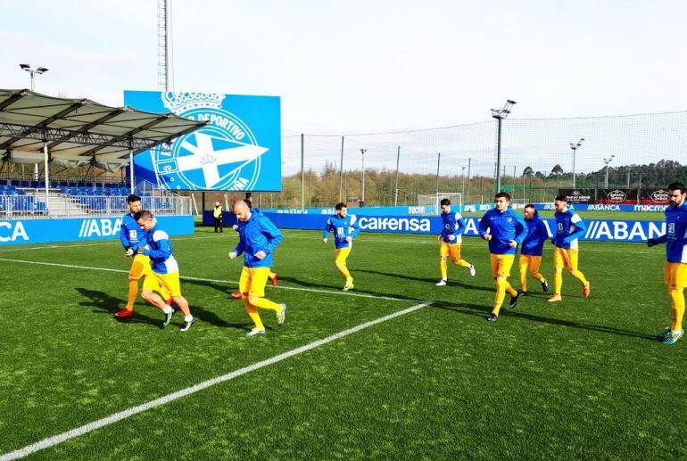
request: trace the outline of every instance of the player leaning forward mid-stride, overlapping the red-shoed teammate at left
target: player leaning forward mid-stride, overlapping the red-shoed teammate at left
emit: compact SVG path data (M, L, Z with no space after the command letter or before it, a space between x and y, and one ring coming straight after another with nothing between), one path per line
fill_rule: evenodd
M171 299L174 300L179 309L184 313L184 325L181 326L181 331L186 332L191 325L195 324L195 319L191 315L188 301L181 296L179 267L177 259L174 258L174 253L172 253L170 235L157 225L157 220L153 218L153 213L148 210L138 211L134 218L137 220L138 225L144 228L146 242L145 246L139 245L136 252L137 254L144 254L153 262L153 270L149 276L145 277L143 282L141 297L164 312L165 320L162 324L162 328L164 328L170 325L174 309L165 304L155 292L161 292L161 290L169 292ZM133 253L134 250L130 249L129 252Z

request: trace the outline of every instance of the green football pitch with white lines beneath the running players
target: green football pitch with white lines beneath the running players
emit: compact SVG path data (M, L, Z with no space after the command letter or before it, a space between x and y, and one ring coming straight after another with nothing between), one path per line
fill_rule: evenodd
M589 299L565 273L550 305L530 279L491 323L482 240L463 245L476 276L451 265L437 287L435 236L362 234L341 292L332 243L285 231L267 297L286 324L261 310L267 334L246 338L237 234L171 240L186 333L143 300L113 317L118 241L0 249L0 458L687 457L687 340L655 339L671 318L663 247L583 242ZM547 244L550 284L551 259Z

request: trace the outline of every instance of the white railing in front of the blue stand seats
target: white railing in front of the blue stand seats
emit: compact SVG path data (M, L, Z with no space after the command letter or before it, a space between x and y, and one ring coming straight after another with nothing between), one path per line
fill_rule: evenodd
M191 198L180 196L142 197L144 210L154 215L190 215ZM85 218L119 216L128 213L126 196L45 194L0 195L0 218Z

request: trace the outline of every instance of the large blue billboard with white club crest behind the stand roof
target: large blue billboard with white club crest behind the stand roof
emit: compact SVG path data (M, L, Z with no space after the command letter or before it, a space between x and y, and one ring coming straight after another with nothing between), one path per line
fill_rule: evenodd
M279 98L213 93L125 92L125 103L208 124L138 154L139 178L171 190L279 191Z

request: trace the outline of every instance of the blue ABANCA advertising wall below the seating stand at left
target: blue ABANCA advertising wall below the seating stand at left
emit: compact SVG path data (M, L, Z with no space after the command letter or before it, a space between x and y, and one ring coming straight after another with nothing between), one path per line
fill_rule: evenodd
M193 216L155 218L169 235L190 235L195 232ZM120 226L121 217L0 220L0 246L110 240L119 238Z

